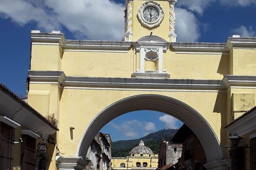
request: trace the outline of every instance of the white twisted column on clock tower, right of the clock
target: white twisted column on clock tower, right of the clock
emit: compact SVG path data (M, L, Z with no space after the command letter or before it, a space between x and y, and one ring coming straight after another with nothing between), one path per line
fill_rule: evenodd
M177 0L170 0L169 1L169 41L170 42L176 42L177 35L175 34L175 11L174 11L174 5L177 2Z

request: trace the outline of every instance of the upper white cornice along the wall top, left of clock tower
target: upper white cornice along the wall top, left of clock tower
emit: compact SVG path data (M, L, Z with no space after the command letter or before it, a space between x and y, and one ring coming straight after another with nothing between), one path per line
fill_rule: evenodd
M59 45L63 50L129 50L132 45L127 41L66 40L64 34L56 33L31 33L31 41L32 45Z

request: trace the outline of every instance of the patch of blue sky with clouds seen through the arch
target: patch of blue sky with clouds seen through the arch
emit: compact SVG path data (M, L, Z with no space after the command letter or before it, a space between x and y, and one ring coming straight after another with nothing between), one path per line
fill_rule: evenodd
M102 133L111 135L112 141L137 139L161 129L178 129L183 123L176 118L156 111L126 113L105 125Z

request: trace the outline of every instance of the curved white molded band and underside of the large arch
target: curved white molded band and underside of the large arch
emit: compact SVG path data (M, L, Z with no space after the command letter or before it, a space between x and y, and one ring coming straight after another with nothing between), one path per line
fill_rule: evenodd
M207 162L223 160L222 148L213 129L196 110L175 98L161 95L136 95L119 100L101 111L87 126L76 151L76 157L86 158L91 141L98 131L114 118L132 111L159 111L180 119L199 138Z

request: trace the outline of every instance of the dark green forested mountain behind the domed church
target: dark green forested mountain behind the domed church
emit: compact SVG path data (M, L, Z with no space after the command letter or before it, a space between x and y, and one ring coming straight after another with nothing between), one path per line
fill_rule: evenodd
M152 149L157 154L160 149L161 139L171 141L172 136L178 131L178 129L162 129L156 132L152 132L142 138L134 140L116 141L112 143L112 157L126 157L129 152L139 145L139 141L143 140L145 146Z

